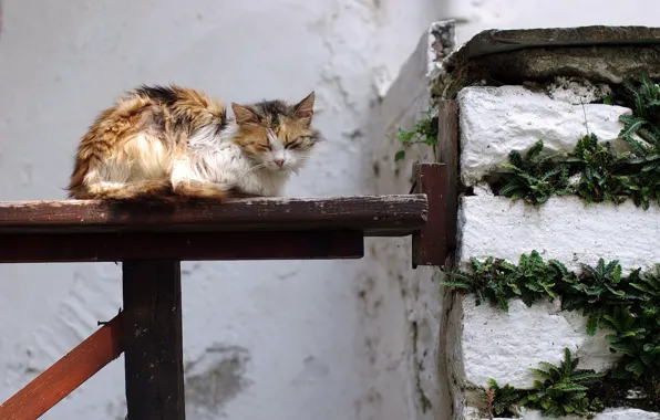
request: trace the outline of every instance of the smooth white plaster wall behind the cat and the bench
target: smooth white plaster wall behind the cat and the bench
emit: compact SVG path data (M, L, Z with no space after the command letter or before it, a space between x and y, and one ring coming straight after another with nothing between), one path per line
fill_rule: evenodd
M367 122L440 7L432 0L6 0L0 199L63 198L76 143L95 114L136 84L169 82L227 102L298 99L314 88L328 141L288 193L372 192L364 161L379 138ZM374 354L408 351L406 329L370 342L382 324L360 292L369 279L385 293L396 291L378 259L183 266L189 418L411 418L410 367L390 375L369 364ZM96 321L116 314L120 275L112 263L0 266L1 400L91 334ZM391 328L405 326L403 307L391 314L399 319ZM43 419L124 416L120 359Z

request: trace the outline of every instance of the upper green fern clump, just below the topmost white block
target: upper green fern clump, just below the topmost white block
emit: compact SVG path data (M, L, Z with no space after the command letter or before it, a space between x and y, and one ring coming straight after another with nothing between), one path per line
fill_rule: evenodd
M651 202L660 204L660 87L642 76L616 92L613 101L633 109L620 117L619 133L632 153L615 154L594 134L580 138L566 156L546 150L539 139L525 156L509 153L498 193L532 204L566 195L587 202L620 203L630 198L644 210ZM573 178L577 180L571 182Z

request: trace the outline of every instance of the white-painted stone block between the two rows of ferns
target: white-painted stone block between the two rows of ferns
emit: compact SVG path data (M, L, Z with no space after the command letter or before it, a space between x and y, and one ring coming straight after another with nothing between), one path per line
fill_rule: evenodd
M660 263L660 208L643 210L631 201L586 204L578 197L555 197L535 208L505 197L463 197L458 242L463 266L471 256L517 263L536 249L574 270L598 263L599 256L619 260L623 270L650 269Z

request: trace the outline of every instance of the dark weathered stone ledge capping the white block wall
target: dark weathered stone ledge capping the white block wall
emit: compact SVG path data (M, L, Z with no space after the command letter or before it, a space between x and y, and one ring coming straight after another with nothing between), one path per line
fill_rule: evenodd
M621 83L660 75L658 28L577 27L487 30L451 54L435 92L447 98L468 84L522 84L555 76ZM447 87L452 87L447 90Z

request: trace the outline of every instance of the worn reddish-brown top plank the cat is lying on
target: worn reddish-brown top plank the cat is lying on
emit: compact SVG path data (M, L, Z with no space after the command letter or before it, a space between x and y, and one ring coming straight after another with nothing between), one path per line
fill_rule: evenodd
M0 235L339 230L405 237L424 225L426 212L425 195L240 198L225 203L4 201Z

